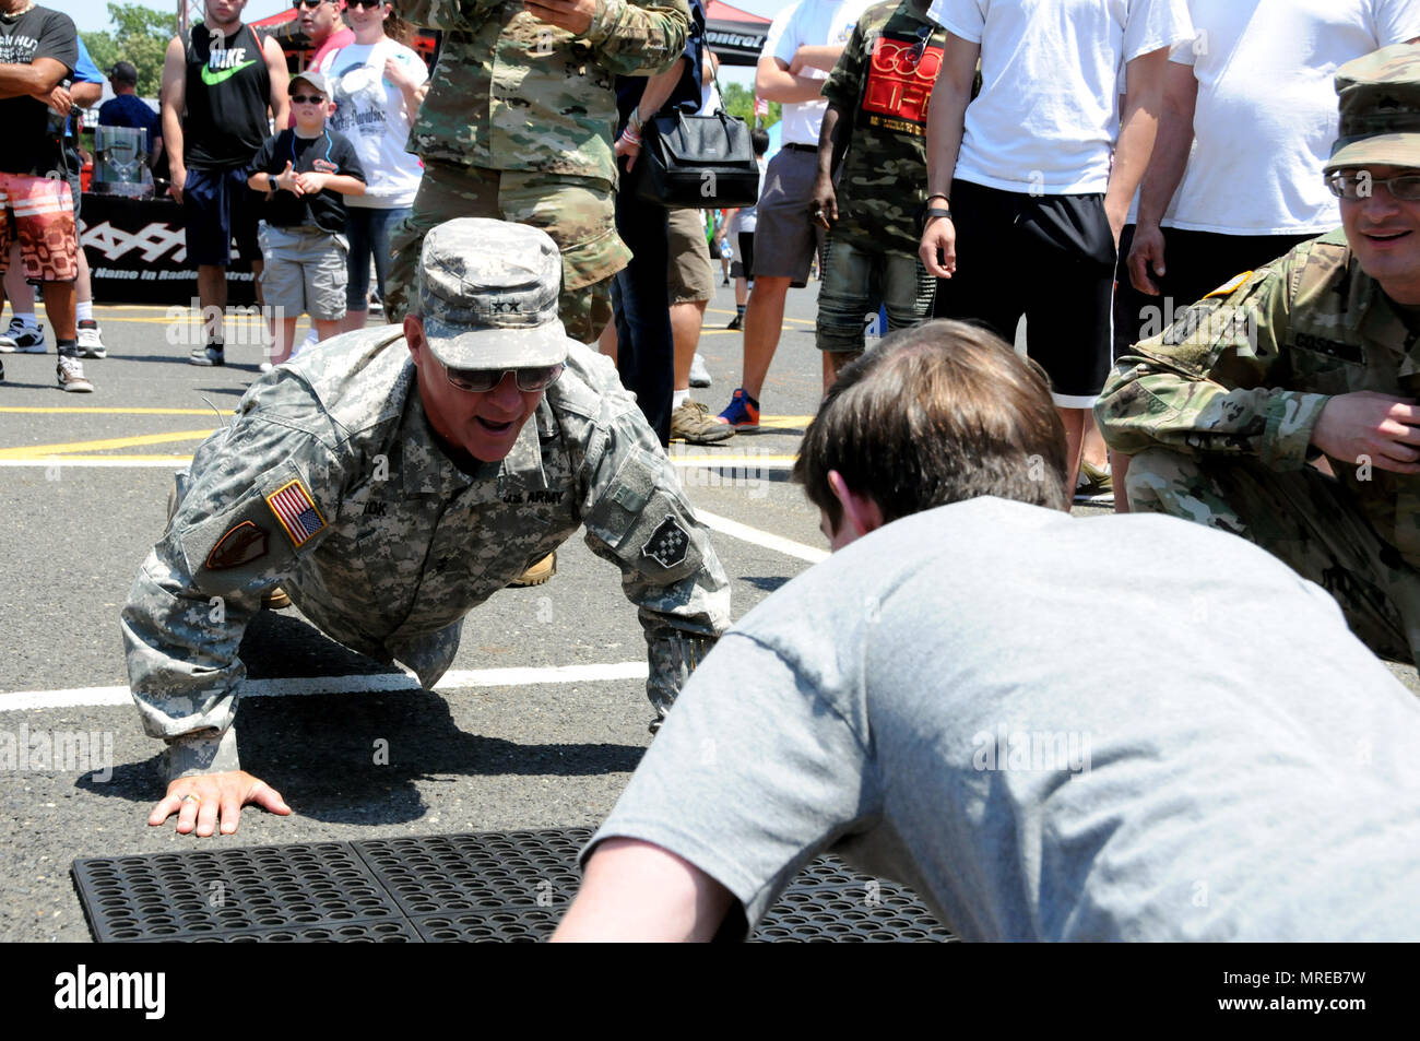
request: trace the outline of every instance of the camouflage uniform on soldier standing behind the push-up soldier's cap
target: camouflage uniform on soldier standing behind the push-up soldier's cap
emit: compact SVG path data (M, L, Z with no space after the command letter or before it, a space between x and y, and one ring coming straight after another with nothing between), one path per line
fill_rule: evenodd
M429 229L494 217L552 236L562 324L592 342L611 321L611 278L630 258L612 219L612 81L680 57L686 0L598 0L579 37L534 18L523 0L409 0L400 13L444 30L444 40L409 133L425 175L413 214L392 237L389 314L403 317Z

